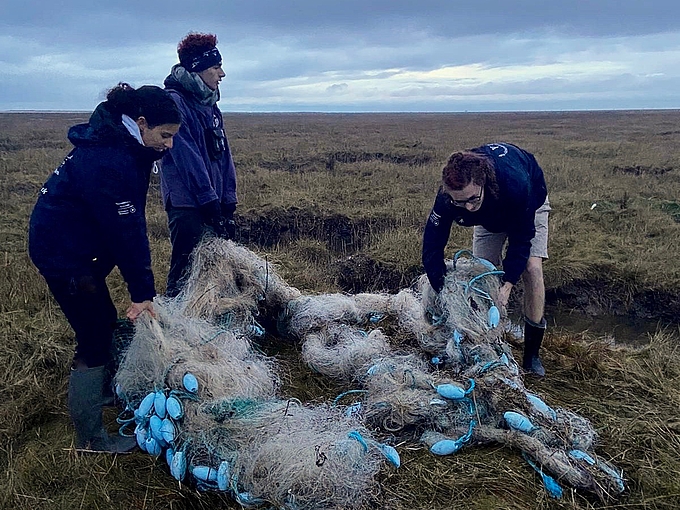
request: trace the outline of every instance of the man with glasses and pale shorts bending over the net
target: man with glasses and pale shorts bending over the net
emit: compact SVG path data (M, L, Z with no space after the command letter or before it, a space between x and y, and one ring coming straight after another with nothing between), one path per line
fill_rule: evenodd
M442 184L423 236L423 265L435 291L444 287L444 248L455 221L474 227L472 251L504 275L500 307L506 307L520 277L524 284L524 356L527 373L543 377L539 350L546 321L543 259L548 258L550 203L543 170L529 152L493 143L454 152L442 171Z

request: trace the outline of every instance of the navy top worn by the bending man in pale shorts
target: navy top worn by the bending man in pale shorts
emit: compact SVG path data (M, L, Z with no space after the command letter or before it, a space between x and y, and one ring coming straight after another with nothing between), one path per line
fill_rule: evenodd
M423 235L423 266L438 292L444 286L444 248L454 221L463 227L481 225L489 232L508 234L503 279L516 284L526 269L531 240L536 235L536 210L548 195L543 170L529 152L509 143L491 143L471 151L493 160L498 197L485 188L482 206L470 212L454 206L451 197L440 188Z

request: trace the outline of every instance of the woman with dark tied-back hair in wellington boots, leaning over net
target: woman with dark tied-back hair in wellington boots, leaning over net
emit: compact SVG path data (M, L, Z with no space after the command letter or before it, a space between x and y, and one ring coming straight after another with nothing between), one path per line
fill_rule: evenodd
M77 449L123 453L136 443L109 436L102 425L118 317L106 277L118 266L132 301L129 319L154 313L146 194L179 123L163 89L119 84L87 124L69 130L75 148L40 189L31 214L29 254L76 335L68 407Z

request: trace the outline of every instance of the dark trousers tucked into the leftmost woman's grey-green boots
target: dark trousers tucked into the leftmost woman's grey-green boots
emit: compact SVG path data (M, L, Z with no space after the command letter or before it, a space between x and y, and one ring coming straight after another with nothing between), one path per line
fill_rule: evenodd
M108 365L112 361L113 330L118 311L106 286L106 275L113 268L106 269L98 267L96 274L86 276L45 277L76 334L74 362L88 367Z

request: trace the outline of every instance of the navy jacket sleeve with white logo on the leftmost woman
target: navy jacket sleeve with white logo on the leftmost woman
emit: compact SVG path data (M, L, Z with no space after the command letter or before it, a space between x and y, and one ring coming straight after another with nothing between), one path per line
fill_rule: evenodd
M146 183L132 158L90 154L89 159L83 162L86 171L81 174L85 200L105 241L106 256L118 266L133 302L153 299L156 290L146 229Z

